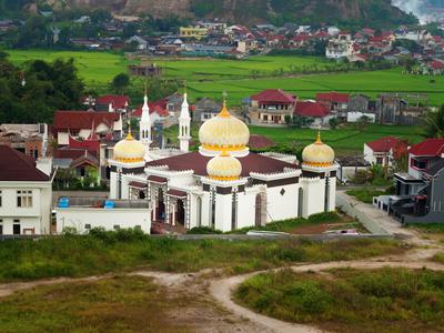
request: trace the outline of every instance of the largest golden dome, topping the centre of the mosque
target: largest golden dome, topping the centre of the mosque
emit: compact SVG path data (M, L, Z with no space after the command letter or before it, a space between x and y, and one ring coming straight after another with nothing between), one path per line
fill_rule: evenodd
M243 121L231 115L223 102L221 112L201 125L199 140L204 155L219 155L223 150L232 155L246 155L250 131Z

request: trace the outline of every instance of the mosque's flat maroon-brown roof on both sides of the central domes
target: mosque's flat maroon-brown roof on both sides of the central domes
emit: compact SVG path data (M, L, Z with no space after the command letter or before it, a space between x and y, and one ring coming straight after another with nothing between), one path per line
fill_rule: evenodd
M199 152L190 152L182 155L171 157L147 163L147 167L168 165L173 171L194 170L194 174L206 175L206 163L211 158L201 155ZM242 176L249 176L250 172L275 173L285 168L297 169L295 164L286 163L269 157L250 153L245 158L239 158L242 164Z

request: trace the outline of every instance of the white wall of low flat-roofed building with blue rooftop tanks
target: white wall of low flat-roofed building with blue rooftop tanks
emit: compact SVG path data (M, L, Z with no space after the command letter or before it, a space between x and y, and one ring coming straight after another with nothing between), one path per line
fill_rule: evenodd
M68 208L56 209L57 232L63 229L75 228L79 233L87 233L87 224L92 228L105 230L141 228L143 232L151 231L151 209L89 209Z

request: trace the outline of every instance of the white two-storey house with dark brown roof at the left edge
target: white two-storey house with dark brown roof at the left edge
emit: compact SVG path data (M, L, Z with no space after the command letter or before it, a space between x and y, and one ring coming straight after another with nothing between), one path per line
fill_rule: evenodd
M50 232L51 182L33 158L0 145L0 234Z

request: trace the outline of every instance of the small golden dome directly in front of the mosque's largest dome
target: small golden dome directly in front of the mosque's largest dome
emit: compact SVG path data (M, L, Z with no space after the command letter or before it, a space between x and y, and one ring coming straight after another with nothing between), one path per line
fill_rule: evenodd
M219 157L212 158L206 164L209 178L219 181L238 180L242 173L242 164L236 158L223 151Z

